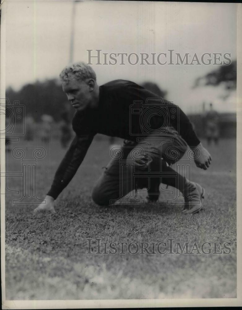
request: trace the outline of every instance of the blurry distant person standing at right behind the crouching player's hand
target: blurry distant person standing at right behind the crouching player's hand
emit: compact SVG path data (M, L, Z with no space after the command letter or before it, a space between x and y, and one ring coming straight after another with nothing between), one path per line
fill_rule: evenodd
M206 137L208 144L214 140L218 144L219 139L219 114L213 109L213 104L210 103L210 110L205 114Z

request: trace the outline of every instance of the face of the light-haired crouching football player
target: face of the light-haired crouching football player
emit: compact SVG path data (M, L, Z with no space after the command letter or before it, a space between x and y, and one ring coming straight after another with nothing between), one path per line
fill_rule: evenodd
M77 111L83 111L91 104L90 87L85 81L70 79L68 83L62 84L62 89L66 93L68 101Z

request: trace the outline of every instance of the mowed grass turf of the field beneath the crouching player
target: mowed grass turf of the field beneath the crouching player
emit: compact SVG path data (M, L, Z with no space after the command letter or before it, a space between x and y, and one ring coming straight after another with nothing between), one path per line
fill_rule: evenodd
M26 142L13 143L12 147ZM32 142L33 146L41 145ZM206 146L206 143L204 142ZM44 198L65 154L58 140L45 145L37 162L37 196ZM192 180L205 188L204 209L182 215L183 198L160 195L152 204L97 206L95 180L110 160L108 140L95 139L77 174L56 200L57 215L33 215L36 205L17 205L6 195L7 299L150 299L236 297L236 141L208 148L213 160L204 171L192 163ZM9 158L9 171L21 163ZM20 178L9 178L21 190ZM165 188L165 187L164 187ZM172 188L168 188L172 190ZM31 200L30 200L31 201ZM87 238L104 242L230 242L230 254L86 254ZM94 242L94 241L93 241ZM223 247L222 247L223 248ZM174 243L173 249L177 247ZM131 247L135 251L135 247ZM165 246L161 246L165 250ZM101 247L103 251L103 247ZM168 249L169 251L169 249Z

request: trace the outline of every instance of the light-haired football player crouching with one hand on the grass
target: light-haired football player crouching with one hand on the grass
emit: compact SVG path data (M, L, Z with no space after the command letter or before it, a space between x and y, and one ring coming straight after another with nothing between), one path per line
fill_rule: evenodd
M177 105L168 104L158 95L131 81L115 80L98 86L94 70L84 62L68 65L60 73L60 78L63 91L76 109L73 118L76 137L56 171L45 202L34 212L46 210L55 212L55 199L77 172L97 133L125 139L121 147L122 161L126 161L127 169L130 168L130 171L123 175L120 171L120 159L113 158L95 183L92 193L95 203L109 205L110 200L124 197L136 189L136 186L148 189L148 201L157 201L162 179L163 184L177 188L183 194L184 214L193 214L201 210L204 189L180 175L169 164L183 157L188 146L192 150L199 151L194 162L201 169L209 168L211 156L197 138L188 117ZM144 124L141 122L140 111L143 105L140 102L146 103L148 98L152 98L153 104L145 105L145 108L148 108L148 123ZM134 102L138 102L135 107ZM155 112L157 104L158 107L163 104L164 113ZM131 106L135 108L133 114L130 113ZM147 124L151 133L143 131ZM157 128L163 127L165 134L160 134L158 137L156 135L154 140L153 133L157 133ZM143 143L137 140L140 136ZM167 153L169 148L175 148L177 156L169 156ZM139 150L142 150L141 156L137 156ZM154 172L157 175L157 171L161 171L163 176L151 177L150 182L148 178L144 180L140 177L134 184L133 175L130 173L133 169L133 165L129 165L130 160L134 162L134 171L138 173ZM122 191L120 191L121 184L125 184Z

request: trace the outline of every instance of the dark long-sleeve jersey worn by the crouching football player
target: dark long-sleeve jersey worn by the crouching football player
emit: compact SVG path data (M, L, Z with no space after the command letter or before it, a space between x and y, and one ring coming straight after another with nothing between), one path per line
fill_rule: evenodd
M164 135L166 128L173 126L190 147L200 143L191 122L177 105L124 80L100 86L98 107L76 112L72 125L76 137L47 193L54 199L75 175L97 133L136 141L150 134Z

